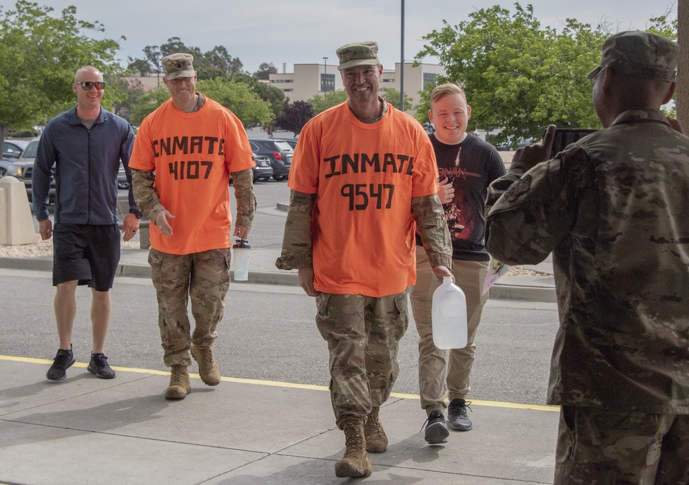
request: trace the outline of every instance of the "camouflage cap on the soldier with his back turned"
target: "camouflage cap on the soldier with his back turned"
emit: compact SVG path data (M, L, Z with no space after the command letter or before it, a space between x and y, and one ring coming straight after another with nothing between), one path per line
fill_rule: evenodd
M606 65L619 65L624 74L648 79L675 79L679 46L664 36L626 30L606 39L601 50L599 66L588 73L593 79Z

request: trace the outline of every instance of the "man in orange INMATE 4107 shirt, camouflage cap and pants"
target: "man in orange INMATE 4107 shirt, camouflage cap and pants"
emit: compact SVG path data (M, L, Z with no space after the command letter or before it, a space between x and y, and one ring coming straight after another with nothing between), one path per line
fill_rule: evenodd
M190 54L163 58L163 80L172 98L143 120L130 160L134 197L155 224L148 262L158 292L163 359L172 367L167 399L183 399L192 389L189 349L201 380L209 386L220 382L213 341L229 288L230 173L236 237L247 237L256 212L247 134L231 111L195 91L193 60Z

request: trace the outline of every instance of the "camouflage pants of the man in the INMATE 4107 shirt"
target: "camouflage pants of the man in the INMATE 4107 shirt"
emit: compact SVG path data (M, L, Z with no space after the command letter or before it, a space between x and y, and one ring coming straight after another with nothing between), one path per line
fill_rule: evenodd
M151 249L148 262L158 293L158 325L163 341L165 365L192 364L191 344L212 347L216 326L225 312L229 289L230 249L213 249L190 255L170 255ZM192 301L196 321L190 334L187 305Z

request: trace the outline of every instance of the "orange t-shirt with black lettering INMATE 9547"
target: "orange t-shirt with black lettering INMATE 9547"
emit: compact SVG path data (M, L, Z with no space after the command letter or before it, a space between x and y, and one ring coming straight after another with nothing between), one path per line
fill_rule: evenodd
M411 197L438 191L433 146L417 120L392 105L370 125L346 102L322 112L302 129L288 185L317 194L316 290L384 297L415 283Z

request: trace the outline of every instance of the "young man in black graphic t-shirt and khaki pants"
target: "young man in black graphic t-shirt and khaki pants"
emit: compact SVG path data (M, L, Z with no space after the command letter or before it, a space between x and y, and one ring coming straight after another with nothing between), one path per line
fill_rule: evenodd
M462 87L448 83L433 89L429 118L438 160L440 191L453 248L452 274L466 296L468 339L464 349L440 350L433 345L431 303L440 281L431 271L417 238L416 284L411 290L411 308L419 332L419 388L421 406L428 414L426 442L438 444L448 437L443 415L450 400L448 420L456 431L473 426L466 415L466 395L471 391L469 374L476 346L474 338L488 294L482 294L490 255L484 245L486 195L493 180L506 172L493 145L466 133L471 107Z

